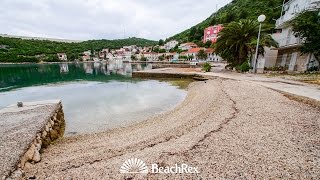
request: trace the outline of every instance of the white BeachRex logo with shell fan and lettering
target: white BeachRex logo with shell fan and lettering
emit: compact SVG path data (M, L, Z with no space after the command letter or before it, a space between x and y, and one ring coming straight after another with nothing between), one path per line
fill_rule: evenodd
M120 173L127 174L197 174L199 170L197 167L189 166L188 164L175 164L174 166L161 167L158 164L151 164L151 170L148 170L146 164L137 158L126 160L120 167Z

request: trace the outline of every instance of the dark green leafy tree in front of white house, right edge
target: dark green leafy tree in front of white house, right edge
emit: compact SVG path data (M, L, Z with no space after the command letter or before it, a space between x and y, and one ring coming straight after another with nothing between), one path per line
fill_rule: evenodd
M303 39L302 53L320 56L320 14L317 11L302 12L292 22L294 35Z

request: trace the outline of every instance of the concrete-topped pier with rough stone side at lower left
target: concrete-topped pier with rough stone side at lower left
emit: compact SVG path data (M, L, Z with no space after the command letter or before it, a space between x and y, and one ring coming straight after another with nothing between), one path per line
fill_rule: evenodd
M41 151L64 134L60 100L23 102L0 110L0 177L23 178L23 169L41 161Z

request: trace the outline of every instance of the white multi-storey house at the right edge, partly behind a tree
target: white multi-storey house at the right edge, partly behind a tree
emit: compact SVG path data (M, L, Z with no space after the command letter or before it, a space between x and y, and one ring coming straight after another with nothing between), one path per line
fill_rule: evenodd
M319 10L320 0L289 0L283 5L282 16L276 21L276 29L280 30L275 39L279 43L277 66L286 66L288 71L303 72L312 64L318 63L312 54L301 54L299 48L302 40L294 36L291 20L303 11Z

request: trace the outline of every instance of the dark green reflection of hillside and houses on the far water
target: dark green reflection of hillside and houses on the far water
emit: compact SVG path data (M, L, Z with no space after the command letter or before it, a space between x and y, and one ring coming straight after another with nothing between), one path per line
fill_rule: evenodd
M0 65L0 92L20 87L75 80L126 81L130 79L133 71L151 68L151 64L131 64L119 60L112 62Z

